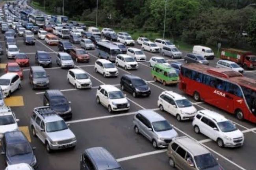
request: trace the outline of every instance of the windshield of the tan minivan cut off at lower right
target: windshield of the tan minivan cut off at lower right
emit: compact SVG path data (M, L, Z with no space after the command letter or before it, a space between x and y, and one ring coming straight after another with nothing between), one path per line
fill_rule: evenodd
M195 156L194 159L198 169L200 170L204 170L218 165L217 161L210 153Z

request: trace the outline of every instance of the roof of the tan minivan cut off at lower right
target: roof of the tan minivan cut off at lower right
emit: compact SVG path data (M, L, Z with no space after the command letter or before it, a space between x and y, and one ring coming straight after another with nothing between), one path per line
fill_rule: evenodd
M179 144L182 148L186 148L186 150L193 154L193 156L210 153L206 148L204 148L204 146L187 136L175 137L173 142Z

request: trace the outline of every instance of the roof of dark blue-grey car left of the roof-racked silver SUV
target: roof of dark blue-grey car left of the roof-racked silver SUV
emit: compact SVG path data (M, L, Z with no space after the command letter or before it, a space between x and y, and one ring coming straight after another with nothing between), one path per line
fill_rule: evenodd
M26 139L24 134L22 132L20 132L19 130L6 132L4 134L4 136L6 137L6 141L7 141L8 144L20 143L22 141L23 142L25 142L25 141L28 142L28 140Z

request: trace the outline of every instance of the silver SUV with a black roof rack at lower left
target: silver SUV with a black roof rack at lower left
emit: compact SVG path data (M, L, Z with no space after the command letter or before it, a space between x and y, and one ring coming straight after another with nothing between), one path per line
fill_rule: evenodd
M52 150L75 148L76 136L50 107L34 108L30 124L33 136L45 144L49 153Z

